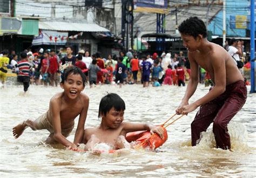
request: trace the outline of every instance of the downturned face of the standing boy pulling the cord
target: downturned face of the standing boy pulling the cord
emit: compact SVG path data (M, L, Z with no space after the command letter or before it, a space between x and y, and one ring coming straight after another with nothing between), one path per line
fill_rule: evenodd
M188 51L193 52L198 49L200 42L199 37L194 39L191 35L181 33L181 38L183 39L183 46L186 47Z

